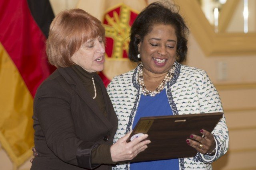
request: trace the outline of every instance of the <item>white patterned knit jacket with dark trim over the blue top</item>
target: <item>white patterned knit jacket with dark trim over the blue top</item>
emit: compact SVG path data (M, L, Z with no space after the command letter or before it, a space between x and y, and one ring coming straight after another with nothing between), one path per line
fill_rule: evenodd
M137 82L138 66L130 72L116 76L108 85L107 91L118 116L118 130L114 142L132 128L134 116L142 88ZM174 115L191 113L223 112L219 94L204 70L185 66L176 62L173 78L166 85L166 93ZM228 128L223 116L212 131L216 141L216 154L179 158L180 170L211 170L211 163L228 150ZM117 164L113 170L129 170L130 164Z

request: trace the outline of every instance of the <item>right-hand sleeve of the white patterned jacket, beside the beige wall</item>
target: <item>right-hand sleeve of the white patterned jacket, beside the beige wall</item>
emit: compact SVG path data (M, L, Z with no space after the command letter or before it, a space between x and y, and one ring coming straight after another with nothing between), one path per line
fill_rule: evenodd
M223 112L220 96L206 72L203 72L202 79L198 81L197 90L200 100L200 113ZM212 131L212 134L216 142L215 155L204 155L199 152L196 155L199 156L204 163L211 163L217 160L228 150L229 136L224 114Z

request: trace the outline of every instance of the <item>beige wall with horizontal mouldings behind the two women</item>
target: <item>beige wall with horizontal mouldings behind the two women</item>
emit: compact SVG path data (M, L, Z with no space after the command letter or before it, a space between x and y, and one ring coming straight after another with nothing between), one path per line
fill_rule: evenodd
M50 2L56 14L65 8L74 8L78 0ZM235 25L230 25L229 31L232 27ZM208 73L220 93L230 131L230 149L214 162L214 169L256 170L256 54L206 56L193 32L189 37L188 49L186 64ZM28 170L30 165L28 160L18 169ZM0 149L0 169L14 168L6 152Z

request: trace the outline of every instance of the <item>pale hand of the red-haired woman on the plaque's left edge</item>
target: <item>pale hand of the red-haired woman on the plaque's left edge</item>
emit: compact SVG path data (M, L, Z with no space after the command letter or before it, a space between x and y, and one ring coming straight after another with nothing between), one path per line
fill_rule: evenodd
M126 142L131 132L120 138L116 143L110 147L111 158L113 162L120 162L124 160L132 160L138 153L144 151L150 143L150 140L143 141L148 137L144 134L130 142Z

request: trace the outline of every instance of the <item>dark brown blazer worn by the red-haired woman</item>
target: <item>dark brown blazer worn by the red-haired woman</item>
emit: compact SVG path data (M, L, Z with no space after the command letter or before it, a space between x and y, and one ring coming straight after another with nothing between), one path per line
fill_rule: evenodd
M38 156L31 170L110 170L91 164L91 150L112 145L117 129L106 88L98 74L107 117L101 113L72 68L58 68L38 88L34 98L34 143Z

